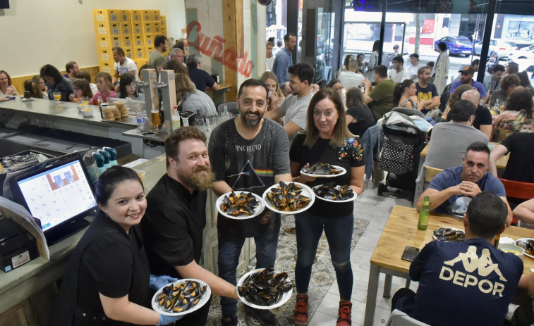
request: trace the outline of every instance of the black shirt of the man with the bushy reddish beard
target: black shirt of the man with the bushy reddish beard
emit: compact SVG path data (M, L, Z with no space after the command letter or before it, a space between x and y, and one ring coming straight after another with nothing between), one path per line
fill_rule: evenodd
M147 195L141 220L150 271L180 277L173 266L200 263L202 232L206 225L207 192L190 194L183 184L165 174Z

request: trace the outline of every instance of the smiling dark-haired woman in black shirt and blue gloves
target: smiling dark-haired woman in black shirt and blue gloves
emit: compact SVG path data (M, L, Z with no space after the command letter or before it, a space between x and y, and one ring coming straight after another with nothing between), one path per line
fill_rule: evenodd
M130 168L107 169L96 185L98 212L71 254L51 325L167 325L150 308L150 289L176 279L150 274L140 222L147 208Z

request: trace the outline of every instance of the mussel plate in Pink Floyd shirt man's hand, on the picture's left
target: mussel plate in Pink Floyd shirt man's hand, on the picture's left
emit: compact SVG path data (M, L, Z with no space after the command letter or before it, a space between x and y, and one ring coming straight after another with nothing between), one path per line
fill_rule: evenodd
M265 209L262 198L252 192L227 192L217 199L215 206L219 213L234 220L255 218Z

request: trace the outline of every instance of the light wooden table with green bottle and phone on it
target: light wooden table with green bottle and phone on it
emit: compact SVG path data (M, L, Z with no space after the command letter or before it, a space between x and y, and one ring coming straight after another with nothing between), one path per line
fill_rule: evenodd
M425 244L432 241L432 232L438 227L456 227L463 230L461 218L432 213L428 220L427 230L421 231L417 228L418 218L419 214L415 211L415 208L404 206L394 206L391 215L389 215L389 220L384 227L382 236L378 240L370 261L371 267L363 325L372 326L380 273L386 274L384 297L389 297L392 276L408 279L410 262L401 259L406 246L423 249ZM521 227L507 227L502 236L511 237L512 239L533 237L534 231ZM528 275L530 274L530 268L534 268L534 259L527 256L523 256L522 259L524 265L523 275Z

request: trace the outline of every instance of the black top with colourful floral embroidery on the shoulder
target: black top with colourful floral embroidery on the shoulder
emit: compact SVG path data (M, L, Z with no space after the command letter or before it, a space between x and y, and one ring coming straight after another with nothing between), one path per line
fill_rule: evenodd
M314 165L315 163L329 163L338 165L347 173L339 177L320 178L318 177L313 182L309 182L309 187L315 187L317 184L325 184L327 182L336 182L337 185L346 185L351 180L351 168L365 165L363 160L363 146L358 137L348 138L341 147L332 147L329 142L330 139L317 139L317 142L312 147L305 146L304 139L306 134L297 134L297 137L291 144L289 151L289 160L299 163L299 170L303 168L306 163ZM353 201L348 203L331 203L329 201L322 201L315 199L315 203L310 207L309 213L320 216L321 218L338 218L348 215L353 211Z

